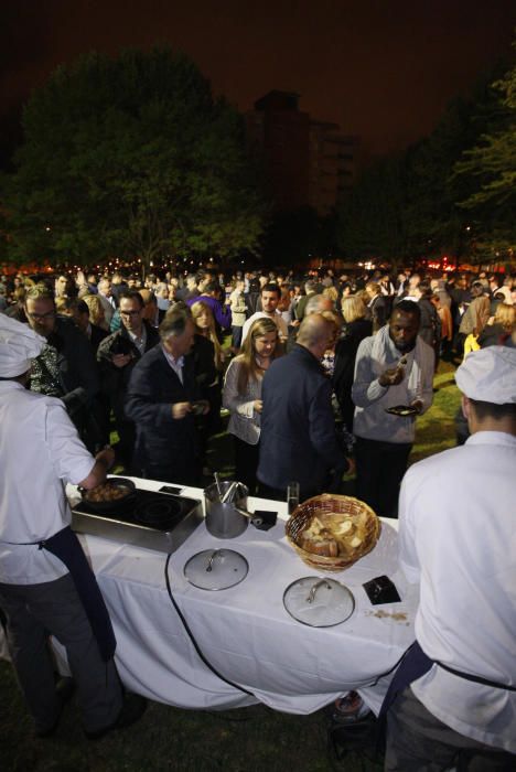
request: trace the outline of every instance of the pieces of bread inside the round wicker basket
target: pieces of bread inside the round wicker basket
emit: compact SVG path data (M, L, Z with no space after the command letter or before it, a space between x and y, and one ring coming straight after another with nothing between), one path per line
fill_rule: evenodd
M352 557L367 538L370 524L365 513L321 512L312 517L299 538L308 553L325 557Z

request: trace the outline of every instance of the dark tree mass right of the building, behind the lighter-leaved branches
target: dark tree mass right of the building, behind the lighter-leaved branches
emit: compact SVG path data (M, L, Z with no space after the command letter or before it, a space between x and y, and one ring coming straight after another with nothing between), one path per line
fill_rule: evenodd
M364 172L338 207L338 242L347 256L471 257L476 232L459 205L472 192L471 180L452 171L498 118L492 79L483 75L469 98L453 99L431 135L404 156L380 159Z

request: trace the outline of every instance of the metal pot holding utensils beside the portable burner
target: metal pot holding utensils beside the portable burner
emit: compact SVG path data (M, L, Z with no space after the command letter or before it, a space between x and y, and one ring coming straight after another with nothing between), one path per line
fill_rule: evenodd
M204 489L206 528L219 539L233 539L245 532L251 515L247 512L246 485L233 481ZM225 501L229 498L229 501Z

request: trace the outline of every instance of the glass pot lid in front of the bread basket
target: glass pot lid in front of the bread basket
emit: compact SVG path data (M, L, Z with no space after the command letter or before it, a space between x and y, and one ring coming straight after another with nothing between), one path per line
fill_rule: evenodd
M303 577L286 589L283 605L298 622L311 628L331 628L350 619L355 598L335 579Z

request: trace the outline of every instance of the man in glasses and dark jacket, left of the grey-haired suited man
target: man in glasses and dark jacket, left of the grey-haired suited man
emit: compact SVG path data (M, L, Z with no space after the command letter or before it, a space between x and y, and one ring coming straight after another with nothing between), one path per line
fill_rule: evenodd
M135 427L123 412L123 401L132 368L159 342L158 331L143 320L144 305L137 290L120 296L121 326L98 346L101 394L115 415L119 436L117 457L125 467L135 450Z

